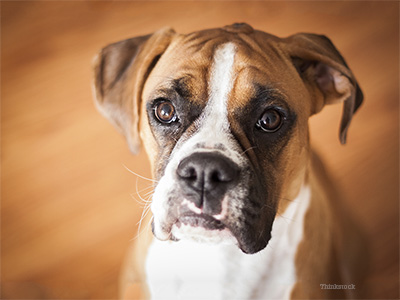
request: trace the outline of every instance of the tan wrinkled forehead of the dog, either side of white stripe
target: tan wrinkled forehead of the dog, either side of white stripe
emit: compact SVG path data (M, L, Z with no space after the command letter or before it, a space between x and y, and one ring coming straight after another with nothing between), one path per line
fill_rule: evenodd
M157 97L155 91L180 88L190 92L190 101L204 104L209 99L216 52L226 44L234 48L229 106L245 106L260 87L285 94L282 83L291 78L288 58L279 48L280 39L248 28L239 29L211 29L175 37L149 77L144 98ZM288 89L288 93L291 91Z

